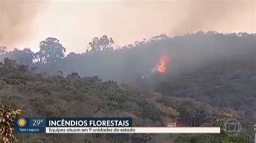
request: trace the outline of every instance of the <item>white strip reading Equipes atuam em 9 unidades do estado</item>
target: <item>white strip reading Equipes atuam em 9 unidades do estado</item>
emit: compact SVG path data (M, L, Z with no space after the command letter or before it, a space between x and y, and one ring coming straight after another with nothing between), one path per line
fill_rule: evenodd
M46 133L220 133L220 127L46 127Z

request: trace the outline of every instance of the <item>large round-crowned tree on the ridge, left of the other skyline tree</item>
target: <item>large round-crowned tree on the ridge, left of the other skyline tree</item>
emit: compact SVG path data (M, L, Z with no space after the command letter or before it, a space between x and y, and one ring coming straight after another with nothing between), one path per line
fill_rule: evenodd
M66 48L57 38L46 38L40 42L40 51L35 54L34 61L40 63L56 62L65 56Z

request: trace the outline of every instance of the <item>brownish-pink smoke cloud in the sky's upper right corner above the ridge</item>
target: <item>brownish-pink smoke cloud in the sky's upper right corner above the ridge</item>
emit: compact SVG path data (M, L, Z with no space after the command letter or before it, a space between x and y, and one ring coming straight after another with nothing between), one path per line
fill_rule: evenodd
M254 29L255 32L255 19L250 17L254 10L255 1L191 1L181 20L171 27L171 35L185 34L191 30L238 32L241 31L240 27L244 27L244 30ZM253 23L254 28L246 27L248 23Z

